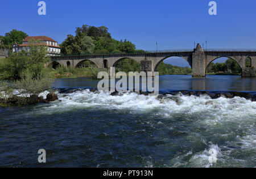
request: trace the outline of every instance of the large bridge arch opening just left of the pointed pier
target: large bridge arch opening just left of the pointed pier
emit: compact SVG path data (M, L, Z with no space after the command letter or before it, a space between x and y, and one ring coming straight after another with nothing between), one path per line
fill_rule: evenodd
M155 72L159 72L159 75L192 74L192 68L182 57L167 57L155 66Z

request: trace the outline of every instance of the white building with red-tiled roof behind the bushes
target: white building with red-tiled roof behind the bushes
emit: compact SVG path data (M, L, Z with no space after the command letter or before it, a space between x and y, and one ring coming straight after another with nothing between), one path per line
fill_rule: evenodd
M22 49L26 49L30 44L28 41L40 41L39 45L46 45L47 46L47 55L49 56L60 56L60 46L57 41L53 40L52 38L48 38L47 36L27 36L23 41L22 44L14 44L13 45L13 52L22 51Z

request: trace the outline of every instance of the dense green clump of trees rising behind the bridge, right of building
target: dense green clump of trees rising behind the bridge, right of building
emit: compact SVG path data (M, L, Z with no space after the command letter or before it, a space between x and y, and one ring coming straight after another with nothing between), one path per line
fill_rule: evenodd
M115 40L105 26L82 25L76 27L76 36L71 34L60 44L62 55L102 54L102 53L138 53L131 41Z

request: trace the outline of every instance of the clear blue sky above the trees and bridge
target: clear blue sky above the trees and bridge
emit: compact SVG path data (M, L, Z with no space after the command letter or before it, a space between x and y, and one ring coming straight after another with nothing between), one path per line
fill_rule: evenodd
M47 15L38 15L39 0L1 0L0 35L12 29L30 36L47 35L61 43L82 24L106 26L114 39L138 49L189 49L208 41L208 48L256 48L256 1L218 0L45 0Z

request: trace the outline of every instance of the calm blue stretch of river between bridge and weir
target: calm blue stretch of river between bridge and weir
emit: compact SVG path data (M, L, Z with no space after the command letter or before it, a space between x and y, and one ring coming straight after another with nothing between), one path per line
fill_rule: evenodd
M97 88L98 81L89 78L57 79L54 87L92 87ZM256 91L256 78L240 76L209 75L206 78L192 78L190 75L159 76L159 89L168 90L237 90Z

